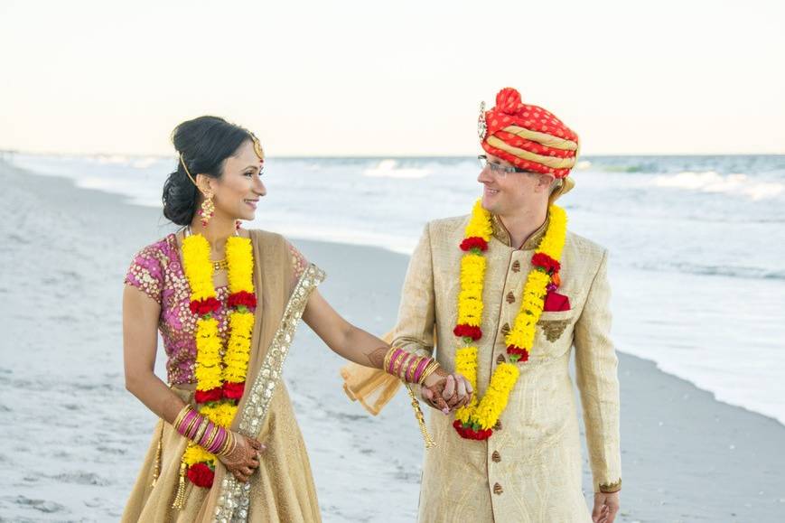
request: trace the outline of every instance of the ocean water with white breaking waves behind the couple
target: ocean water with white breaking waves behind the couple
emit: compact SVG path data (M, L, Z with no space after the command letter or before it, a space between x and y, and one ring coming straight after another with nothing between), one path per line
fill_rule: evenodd
M157 207L175 167L12 162ZM410 253L427 220L471 209L478 173L473 158L269 158L252 226ZM596 156L572 175L560 203L572 230L611 251L619 350L785 423L785 156Z

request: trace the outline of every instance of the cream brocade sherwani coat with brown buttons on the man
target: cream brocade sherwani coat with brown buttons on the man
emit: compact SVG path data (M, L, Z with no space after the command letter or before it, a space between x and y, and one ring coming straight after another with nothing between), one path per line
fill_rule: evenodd
M425 227L408 268L393 341L421 354L435 351L450 371L455 369L453 327L463 256L458 246L468 221L468 216L439 219ZM506 358L504 336L519 312L530 259L546 227L547 222L517 249L509 246L507 231L494 217L482 294L480 395ZM619 382L609 338L607 253L568 232L561 264L558 292L568 296L572 308L542 313L529 360L519 366L519 381L491 438L465 440L453 429L453 415L432 411L436 447L425 453L421 522L591 521L581 489L581 446L569 374L573 347L594 490L621 487Z

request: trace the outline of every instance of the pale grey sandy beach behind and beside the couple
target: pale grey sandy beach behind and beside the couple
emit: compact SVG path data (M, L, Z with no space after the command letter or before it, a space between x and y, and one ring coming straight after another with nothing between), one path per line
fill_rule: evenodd
M117 520L155 423L124 386L123 276L138 248L173 227L160 210L2 160L0 180L0 521ZM370 332L388 331L406 256L292 241L327 271L322 293L338 311ZM617 520L785 520L785 426L718 402L649 360L619 357ZM341 365L301 326L285 378L324 521L414 521L425 451L407 397L369 416L344 396ZM590 485L584 460L587 502Z

